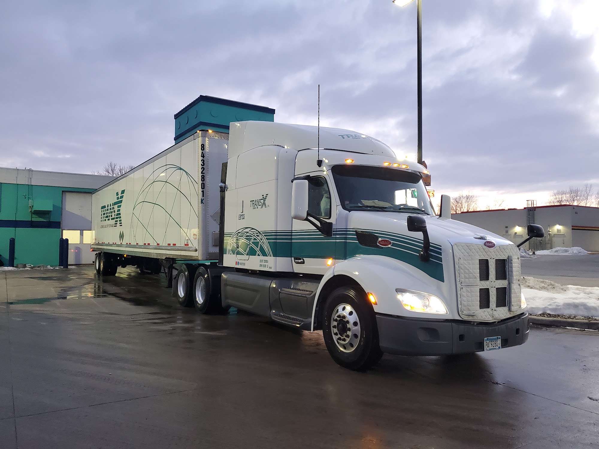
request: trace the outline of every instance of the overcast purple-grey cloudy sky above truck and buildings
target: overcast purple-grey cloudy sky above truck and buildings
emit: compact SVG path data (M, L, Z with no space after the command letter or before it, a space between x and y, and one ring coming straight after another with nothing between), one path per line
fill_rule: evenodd
M439 193L599 187L599 1L423 0L423 153ZM416 4L2 2L0 166L90 172L173 143L199 95L416 151Z

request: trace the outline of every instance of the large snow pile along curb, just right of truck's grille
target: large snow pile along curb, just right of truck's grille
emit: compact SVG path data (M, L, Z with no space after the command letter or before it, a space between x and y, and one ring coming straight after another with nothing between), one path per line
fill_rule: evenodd
M524 277L522 293L531 315L599 319L599 287L562 286L543 279Z

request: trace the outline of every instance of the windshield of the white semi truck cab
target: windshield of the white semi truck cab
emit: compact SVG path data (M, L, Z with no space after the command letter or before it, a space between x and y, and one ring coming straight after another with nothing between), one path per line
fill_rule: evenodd
M366 165L335 165L331 171L345 210L434 215L417 173Z

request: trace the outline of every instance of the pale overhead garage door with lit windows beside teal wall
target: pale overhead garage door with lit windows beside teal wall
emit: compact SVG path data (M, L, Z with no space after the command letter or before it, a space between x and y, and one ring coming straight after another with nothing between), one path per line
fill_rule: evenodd
M69 239L69 264L93 263L91 193L62 192L61 227Z

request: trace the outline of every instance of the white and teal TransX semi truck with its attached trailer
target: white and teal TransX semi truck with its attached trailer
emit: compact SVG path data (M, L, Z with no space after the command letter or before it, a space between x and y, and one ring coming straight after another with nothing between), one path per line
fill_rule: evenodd
M322 329L339 365L528 339L516 245L435 215L425 167L346 129L233 122L93 193L98 275L167 268L183 307ZM530 226L530 238L543 230Z

